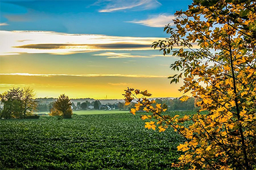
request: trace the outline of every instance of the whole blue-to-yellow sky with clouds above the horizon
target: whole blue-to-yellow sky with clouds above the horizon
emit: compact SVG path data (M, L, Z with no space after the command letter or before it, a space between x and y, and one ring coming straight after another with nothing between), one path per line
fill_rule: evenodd
M0 1L0 93L31 87L37 97L115 99L124 89L180 97L178 58L151 44L185 0Z

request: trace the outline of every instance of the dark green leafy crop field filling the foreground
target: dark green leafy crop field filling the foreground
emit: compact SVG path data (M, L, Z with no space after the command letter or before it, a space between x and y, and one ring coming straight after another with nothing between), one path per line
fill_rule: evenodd
M0 135L0 169L171 169L183 141L132 114L0 120Z

